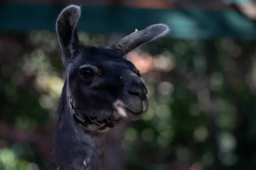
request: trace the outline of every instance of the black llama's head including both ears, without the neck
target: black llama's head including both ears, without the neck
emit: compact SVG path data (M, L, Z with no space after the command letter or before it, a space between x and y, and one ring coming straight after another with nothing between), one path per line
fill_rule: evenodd
M56 23L61 59L67 71L70 119L93 132L106 132L124 120L140 119L148 110L148 91L137 68L123 56L165 36L169 27L152 25L106 48L97 48L79 42L76 30L80 14L79 6L68 6Z

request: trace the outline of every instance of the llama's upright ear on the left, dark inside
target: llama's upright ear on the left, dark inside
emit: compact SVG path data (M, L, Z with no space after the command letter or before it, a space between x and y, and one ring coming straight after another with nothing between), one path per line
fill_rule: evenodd
M80 15L80 7L70 5L61 11L56 23L56 31L62 50L62 62L64 65L72 61L79 54L82 46L76 33Z

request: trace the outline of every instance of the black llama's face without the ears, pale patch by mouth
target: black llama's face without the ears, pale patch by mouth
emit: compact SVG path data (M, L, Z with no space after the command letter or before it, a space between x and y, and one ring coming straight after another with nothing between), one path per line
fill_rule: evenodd
M76 123L105 132L148 111L148 93L137 68L113 50L83 47L67 71L67 101Z

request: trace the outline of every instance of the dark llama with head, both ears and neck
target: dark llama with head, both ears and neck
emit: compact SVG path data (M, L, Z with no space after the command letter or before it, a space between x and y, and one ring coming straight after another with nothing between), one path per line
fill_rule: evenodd
M137 68L123 56L164 37L169 27L152 25L97 48L79 42L80 15L80 7L70 5L56 23L67 78L57 109L53 164L58 170L103 170L105 132L148 111L147 88Z

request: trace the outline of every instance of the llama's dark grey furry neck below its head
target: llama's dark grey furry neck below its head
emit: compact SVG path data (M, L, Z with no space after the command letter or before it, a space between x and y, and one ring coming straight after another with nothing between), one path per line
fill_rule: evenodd
M64 107L67 106L64 92L62 95L53 146L58 170L103 170L105 134L85 132L75 125L73 117Z

